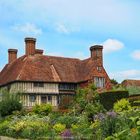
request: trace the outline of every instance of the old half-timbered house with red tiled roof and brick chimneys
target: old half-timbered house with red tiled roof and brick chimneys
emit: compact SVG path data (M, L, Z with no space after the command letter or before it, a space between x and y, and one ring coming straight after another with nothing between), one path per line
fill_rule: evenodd
M0 88L21 92L23 105L51 103L58 106L62 96L73 96L77 87L94 82L98 88L110 88L103 67L103 46L90 47L85 60L48 56L36 49L35 38L25 38L25 54L17 58L16 49L8 50L8 64L0 72Z

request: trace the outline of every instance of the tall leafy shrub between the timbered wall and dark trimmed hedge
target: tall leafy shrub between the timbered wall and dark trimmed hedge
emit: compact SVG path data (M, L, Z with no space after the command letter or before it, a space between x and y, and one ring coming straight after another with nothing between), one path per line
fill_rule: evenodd
M98 112L104 111L103 106L100 104L99 94L93 84L87 88L78 89L74 108L76 113L86 113L89 118L92 118Z

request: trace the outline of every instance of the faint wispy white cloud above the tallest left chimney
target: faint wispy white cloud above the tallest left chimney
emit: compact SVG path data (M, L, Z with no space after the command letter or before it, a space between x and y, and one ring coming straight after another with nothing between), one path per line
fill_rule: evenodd
M19 31L19 32L23 32L26 34L34 34L34 35L40 35L42 34L42 30L38 27L36 27L36 25L32 24L32 23L25 23L22 25L14 25L12 27L13 30L15 31Z

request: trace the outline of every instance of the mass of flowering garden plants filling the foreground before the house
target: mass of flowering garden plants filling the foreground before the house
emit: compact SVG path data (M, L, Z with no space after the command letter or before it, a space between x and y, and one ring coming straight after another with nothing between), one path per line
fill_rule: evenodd
M103 96L106 102L109 97L120 94L122 97L122 92L106 94ZM36 105L28 114L15 111L0 119L0 135L39 140L70 139L71 136L72 139L139 140L140 108L133 108L128 100L122 99L114 104L114 110L107 112L100 98L96 87L90 85L78 90L68 113L54 112L46 104Z

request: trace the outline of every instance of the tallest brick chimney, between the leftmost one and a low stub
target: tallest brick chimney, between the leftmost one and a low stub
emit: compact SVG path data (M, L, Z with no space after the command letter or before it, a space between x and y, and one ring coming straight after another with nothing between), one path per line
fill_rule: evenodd
M35 38L25 38L25 50L26 50L26 55L34 55L35 54L35 43L36 39Z

